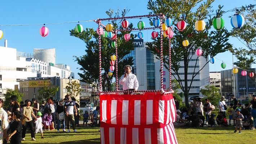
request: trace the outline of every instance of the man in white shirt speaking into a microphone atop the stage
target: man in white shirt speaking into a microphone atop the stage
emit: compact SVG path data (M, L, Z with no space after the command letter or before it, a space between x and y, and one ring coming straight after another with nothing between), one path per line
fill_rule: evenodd
M124 75L120 78L120 84L123 85L123 90L138 90L139 82L136 75L131 73L131 66L124 67Z

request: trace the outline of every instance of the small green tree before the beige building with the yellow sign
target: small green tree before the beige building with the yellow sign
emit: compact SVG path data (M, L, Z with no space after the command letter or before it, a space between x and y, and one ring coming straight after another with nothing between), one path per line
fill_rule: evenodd
M44 86L38 90L38 99L41 101L42 99L50 98L51 96L55 95L59 90L59 86L52 86L47 87Z

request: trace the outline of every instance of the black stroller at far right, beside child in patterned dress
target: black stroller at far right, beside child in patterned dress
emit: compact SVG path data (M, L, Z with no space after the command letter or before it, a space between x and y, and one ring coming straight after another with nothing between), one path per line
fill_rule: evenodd
M241 109L241 113L244 116L243 122L243 130L251 130L253 127L253 119L251 114L249 113L248 109Z

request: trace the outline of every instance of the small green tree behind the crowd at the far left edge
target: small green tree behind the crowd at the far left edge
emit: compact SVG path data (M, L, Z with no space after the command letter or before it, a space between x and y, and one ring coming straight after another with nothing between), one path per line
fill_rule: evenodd
M12 90L12 89L7 89L6 93L4 94L4 108L8 108L8 106L10 105L10 98L12 95L16 95L17 96L17 101L21 102L22 101L22 96L23 93L19 93L17 90Z

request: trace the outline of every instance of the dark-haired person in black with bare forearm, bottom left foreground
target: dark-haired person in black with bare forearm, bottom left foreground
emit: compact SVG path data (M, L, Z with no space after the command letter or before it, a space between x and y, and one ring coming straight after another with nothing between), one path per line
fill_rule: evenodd
M7 135L9 135L6 140L9 141L11 139L10 144L21 144L21 134L22 134L22 122L19 119L22 116L20 111L13 112L12 125L10 126L10 131Z

